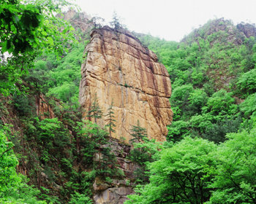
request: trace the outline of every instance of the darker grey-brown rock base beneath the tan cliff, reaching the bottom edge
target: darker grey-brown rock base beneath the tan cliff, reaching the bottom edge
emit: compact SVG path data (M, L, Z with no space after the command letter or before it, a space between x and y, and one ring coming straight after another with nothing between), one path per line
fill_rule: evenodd
M122 144L116 139L110 139L110 143L102 146L109 147L111 152L116 156L117 168L123 172L123 176L113 176L111 181L106 183L101 178L97 177L94 181L94 203L95 204L123 204L127 200L127 195L134 193L135 187L135 170L138 170L140 165L131 162L127 159L131 146Z

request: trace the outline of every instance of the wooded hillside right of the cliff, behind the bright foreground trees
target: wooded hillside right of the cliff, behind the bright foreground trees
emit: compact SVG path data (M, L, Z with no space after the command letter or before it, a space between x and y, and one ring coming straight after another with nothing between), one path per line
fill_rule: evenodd
M148 47L157 42L141 37ZM192 135L219 143L241 128L255 110L255 42L255 25L221 18L192 31L176 49L159 43L173 87L167 140Z

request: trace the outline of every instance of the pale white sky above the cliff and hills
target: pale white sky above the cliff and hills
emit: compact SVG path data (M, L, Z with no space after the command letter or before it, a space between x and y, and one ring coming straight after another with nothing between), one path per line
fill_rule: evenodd
M256 23L256 0L73 0L109 22L116 11L130 31L179 41L210 19Z

